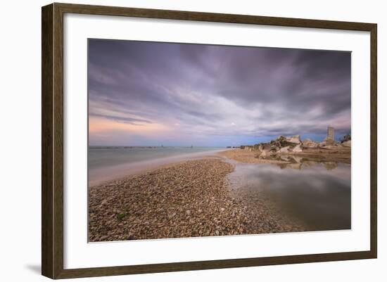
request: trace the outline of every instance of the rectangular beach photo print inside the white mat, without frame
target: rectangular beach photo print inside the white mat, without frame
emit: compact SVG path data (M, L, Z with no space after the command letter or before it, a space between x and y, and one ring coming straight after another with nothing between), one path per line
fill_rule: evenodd
M351 229L351 53L88 41L88 241Z

